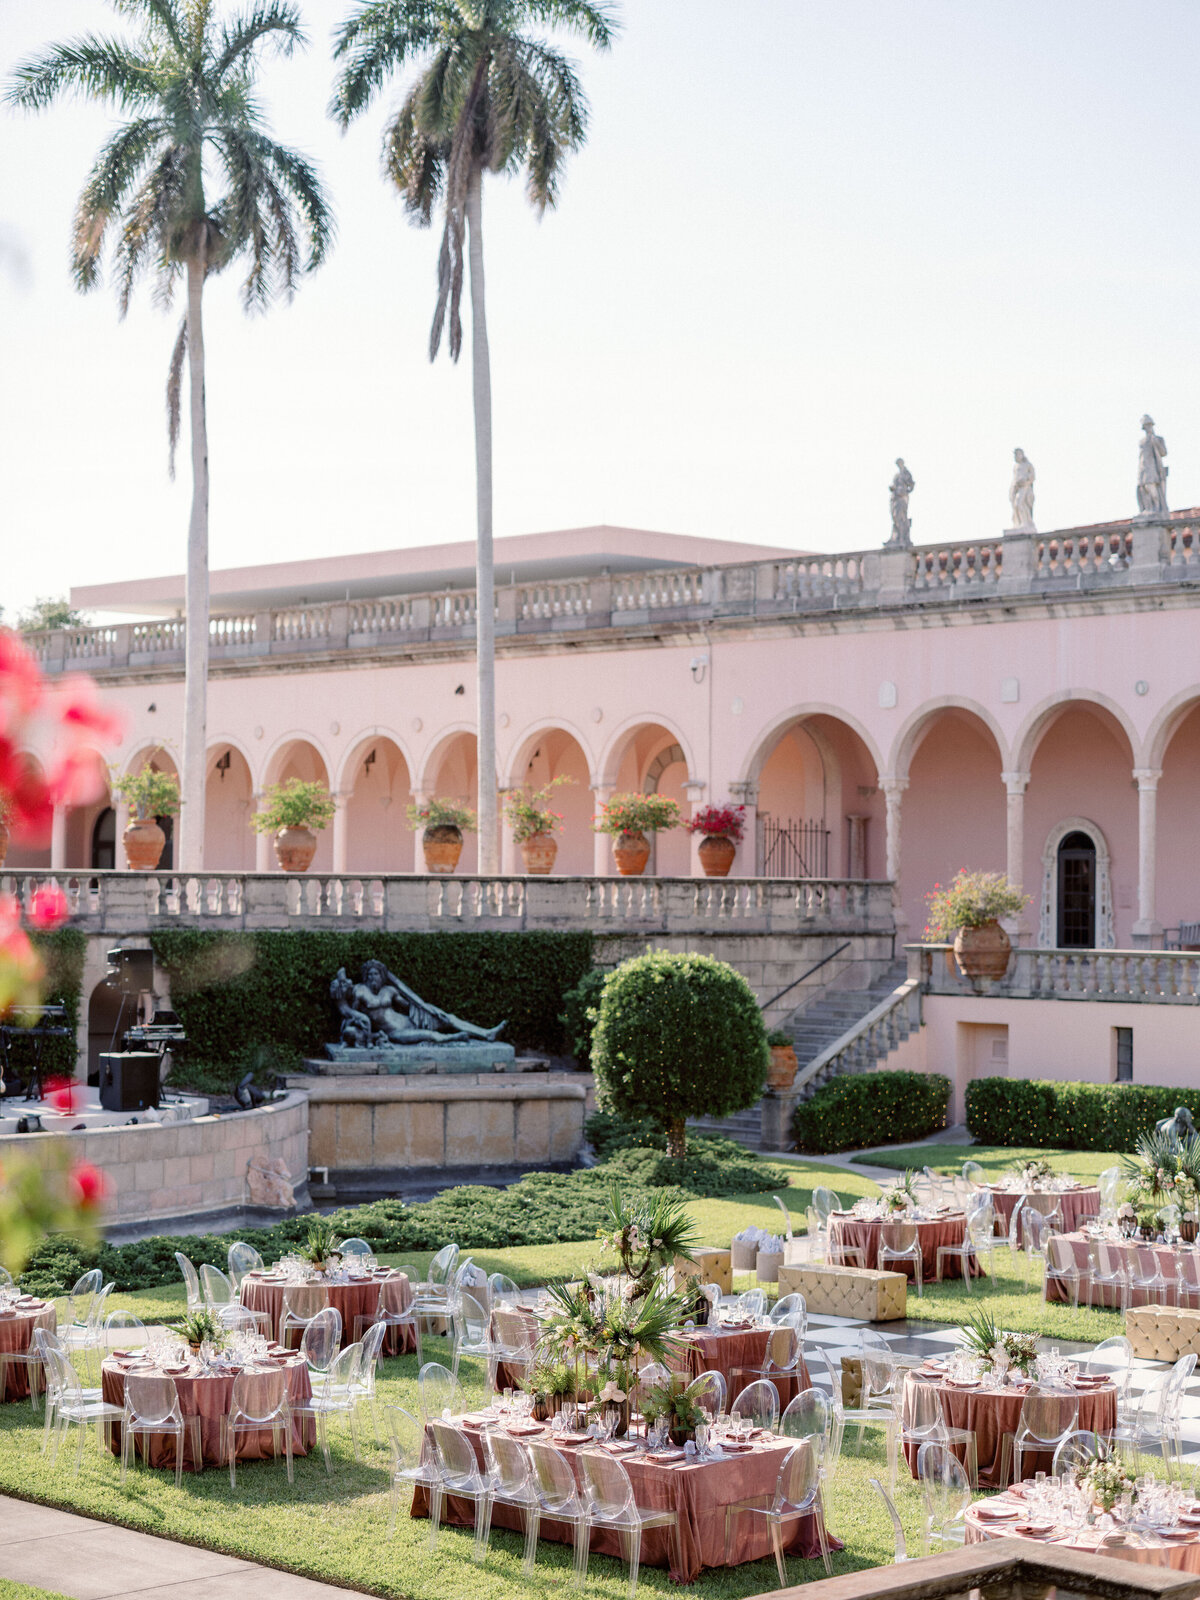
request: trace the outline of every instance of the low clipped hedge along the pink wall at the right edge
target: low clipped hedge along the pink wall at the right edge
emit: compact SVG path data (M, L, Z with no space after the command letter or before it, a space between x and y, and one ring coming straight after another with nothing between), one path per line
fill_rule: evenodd
M1189 1098L1189 1090L1155 1083L974 1078L966 1085L966 1126L979 1144L1131 1150Z

